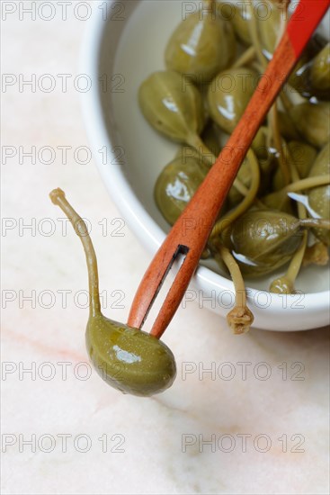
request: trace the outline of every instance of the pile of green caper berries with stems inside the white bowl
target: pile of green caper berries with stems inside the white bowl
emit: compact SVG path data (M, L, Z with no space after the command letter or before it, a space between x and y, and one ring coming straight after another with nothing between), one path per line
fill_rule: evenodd
M140 85L144 117L181 145L155 184L169 224L242 116L285 30L284 4L255 11L251 2L204 1L168 40L166 69ZM227 266L236 288L234 265L248 277L282 267L270 291L294 293L301 266L328 262L329 96L330 44L315 34L258 130L204 251Z

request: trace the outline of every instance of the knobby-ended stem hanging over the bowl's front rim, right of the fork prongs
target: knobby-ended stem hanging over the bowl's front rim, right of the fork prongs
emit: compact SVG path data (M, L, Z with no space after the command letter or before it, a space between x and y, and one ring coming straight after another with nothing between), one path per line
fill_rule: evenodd
M227 323L235 334L242 334L250 329L254 321L253 313L246 306L246 293L243 276L235 258L227 247L218 244L219 256L224 261L235 286L235 307L227 314Z

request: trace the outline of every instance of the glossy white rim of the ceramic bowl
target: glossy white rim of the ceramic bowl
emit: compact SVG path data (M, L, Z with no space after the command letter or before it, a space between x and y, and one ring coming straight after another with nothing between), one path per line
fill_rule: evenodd
M113 4L115 1L116 0L107 0L107 3ZM97 0L97 2L94 3L95 11L97 11L98 4L104 4L104 2L102 0ZM80 50L79 67L82 69L82 73L91 77L93 82L90 91L80 94L85 128L91 143L95 163L103 178L103 182L106 184L106 187L111 194L112 200L115 202L120 214L123 215L125 220L128 220L129 229L134 232L147 250L154 255L157 248L160 247L166 237L165 232L142 207L137 195L134 193L130 184L125 180L120 165L116 164L116 160L111 160L111 164L103 163L101 155L98 152L100 148L103 148L103 146L106 145L110 152L109 156L114 157L111 151L111 139L103 120L103 107L98 90L99 85L95 84L99 77L100 50L106 27L107 22L104 21L101 14L92 15L86 23L85 35ZM141 236L141 233L143 233L144 236ZM235 293L232 281L213 272L206 266L198 266L189 287L201 290L203 293L210 293L212 289ZM274 316L279 316L281 314L283 318L288 316L288 310L292 309L288 308L286 305L283 307L283 294L269 293L268 291L258 290L252 287L246 287L246 292L247 302L249 302L254 311L255 298L259 298L261 293L263 295L268 294L266 295L267 298L271 297L270 305L272 305L272 311L270 311L270 313ZM304 303L308 305L311 312L317 316L320 311L323 314L325 313L330 300L330 289L319 293L299 292L298 294L288 294L288 297L291 295L303 295ZM266 308L268 309L270 306L259 306L259 309L262 310ZM298 311L294 311L295 316L299 317L303 315L303 313L299 311L300 309L305 310L306 308L305 306L297 307L296 310ZM306 315L304 314L304 316ZM283 320L285 320L285 318ZM323 327L327 323L328 321L326 318L323 318L321 322L317 323L317 326L311 326L310 323L306 322L305 328L304 324L302 324L299 329ZM275 322L274 326L276 327ZM254 328L265 329L264 325L254 325ZM269 329L276 330L276 328ZM290 330L295 330L295 328L291 328Z

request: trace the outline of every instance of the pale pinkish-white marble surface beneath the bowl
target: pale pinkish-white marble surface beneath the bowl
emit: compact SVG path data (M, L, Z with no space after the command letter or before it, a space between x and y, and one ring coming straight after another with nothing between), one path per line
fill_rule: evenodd
M2 492L328 493L327 329L234 336L192 302L165 332L170 390L120 395L91 370L84 253L49 191L90 222L111 318L149 256L86 154L74 81L93 2L31 4L2 2Z

